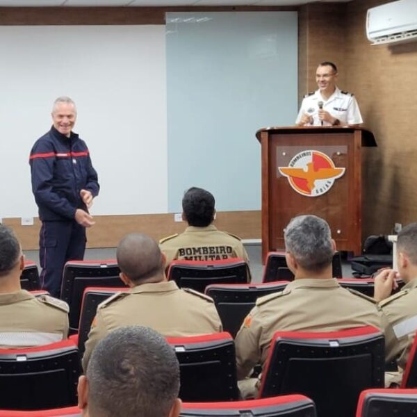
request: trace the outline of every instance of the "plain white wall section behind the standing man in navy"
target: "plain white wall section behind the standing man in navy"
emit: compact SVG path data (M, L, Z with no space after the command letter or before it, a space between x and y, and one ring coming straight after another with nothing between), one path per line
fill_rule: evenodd
M101 193L92 214L167 212L165 26L0 26L0 218L38 215L28 156L76 101Z

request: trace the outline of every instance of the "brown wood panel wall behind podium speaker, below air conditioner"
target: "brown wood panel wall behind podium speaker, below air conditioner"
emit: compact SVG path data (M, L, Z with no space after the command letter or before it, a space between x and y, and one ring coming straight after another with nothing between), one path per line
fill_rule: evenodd
M354 92L378 142L363 149L363 237L417 221L417 42L370 45L366 10L386 2L310 4L300 11L299 85L315 90L317 63L334 60L338 84Z

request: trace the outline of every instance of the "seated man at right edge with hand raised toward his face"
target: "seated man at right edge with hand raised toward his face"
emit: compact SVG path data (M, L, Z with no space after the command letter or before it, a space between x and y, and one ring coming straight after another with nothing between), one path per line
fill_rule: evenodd
M375 277L374 298L382 311L385 329L385 357L392 361L398 357L400 373L386 375L386 385L400 384L402 370L407 363L410 347L417 331L417 223L404 227L397 238L398 272L386 269ZM399 293L391 295L401 277L405 285Z

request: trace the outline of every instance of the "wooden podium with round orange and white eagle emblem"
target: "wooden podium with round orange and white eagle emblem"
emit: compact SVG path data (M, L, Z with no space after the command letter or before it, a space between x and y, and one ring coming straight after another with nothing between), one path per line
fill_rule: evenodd
M262 148L262 258L284 248L284 228L315 214L332 229L338 250L361 253L361 147L377 146L356 127L268 127ZM343 170L344 168L344 170Z

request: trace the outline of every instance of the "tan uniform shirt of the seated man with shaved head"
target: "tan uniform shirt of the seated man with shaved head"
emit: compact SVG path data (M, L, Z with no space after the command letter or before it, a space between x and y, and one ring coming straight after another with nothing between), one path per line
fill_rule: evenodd
M179 289L174 281L141 284L118 293L97 309L88 341L83 368L95 345L117 327L142 325L163 336L197 336L222 332L222 322L211 297Z

